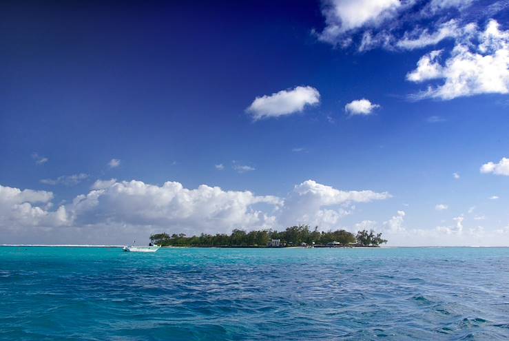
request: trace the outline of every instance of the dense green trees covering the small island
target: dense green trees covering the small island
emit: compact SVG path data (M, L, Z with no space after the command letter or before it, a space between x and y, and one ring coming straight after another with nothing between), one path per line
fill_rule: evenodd
M288 227L284 231L262 229L246 232L234 229L227 234L201 234L200 236L188 237L185 234L152 234L150 241L162 246L196 246L196 247L267 247L273 239L278 239L282 246L327 245L331 242L339 242L340 245L349 246L379 246L387 242L382 239L382 234L375 231L358 231L357 236L351 232L339 229L336 231L320 232L318 227L311 230L308 225Z

